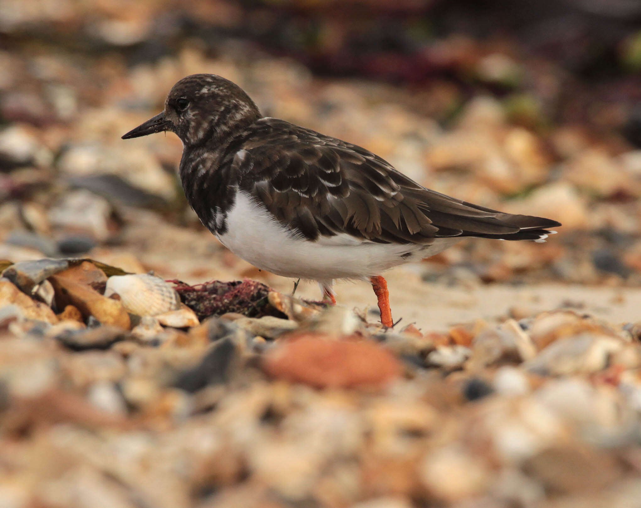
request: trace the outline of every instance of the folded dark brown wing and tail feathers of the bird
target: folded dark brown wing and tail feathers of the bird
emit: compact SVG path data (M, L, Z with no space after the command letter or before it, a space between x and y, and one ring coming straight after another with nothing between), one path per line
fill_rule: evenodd
M429 244L435 237L500 238L558 225L426 189L362 147L284 120L259 120L245 139L230 155L240 187L310 240L348 233L371 242Z

